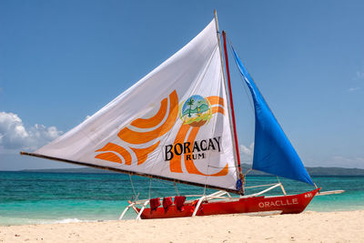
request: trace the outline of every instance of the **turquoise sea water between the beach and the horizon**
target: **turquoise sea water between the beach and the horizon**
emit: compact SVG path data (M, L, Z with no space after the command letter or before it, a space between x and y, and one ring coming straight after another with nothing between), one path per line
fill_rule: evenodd
M139 198L176 195L172 183L132 177ZM306 210L364 209L364 177L313 177L322 191L345 193L314 197ZM277 182L276 177L247 177L247 186ZM304 183L281 179L288 194L313 189ZM149 191L149 184L151 190ZM202 194L204 188L177 185L181 195ZM206 193L213 192L207 190ZM253 192L248 190L248 193ZM129 176L123 174L0 172L0 225L115 220L133 196ZM281 194L275 189L270 194ZM129 210L126 218L135 218Z

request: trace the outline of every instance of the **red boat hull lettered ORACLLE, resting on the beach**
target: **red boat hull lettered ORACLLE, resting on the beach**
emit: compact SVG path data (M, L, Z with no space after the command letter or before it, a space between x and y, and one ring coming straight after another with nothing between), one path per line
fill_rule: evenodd
M282 214L298 214L302 212L313 197L318 193L319 188L298 195L278 197L248 197L237 198L234 201L203 202L197 211L197 216L218 215L218 214L241 214L256 213L264 211L282 211ZM134 208L136 213L140 208ZM175 205L172 205L165 212L164 208L157 208L157 211L150 212L145 208L141 218L182 218L191 217L194 211L192 203L185 204L185 210L180 212Z

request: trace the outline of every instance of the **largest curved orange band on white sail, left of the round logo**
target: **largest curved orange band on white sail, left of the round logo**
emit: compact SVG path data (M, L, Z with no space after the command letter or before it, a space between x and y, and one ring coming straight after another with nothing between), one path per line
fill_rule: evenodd
M169 114L163 125L149 132L136 132L125 127L117 134L123 141L129 144L145 144L157 137L165 135L175 125L178 115L178 97L176 90L169 95Z

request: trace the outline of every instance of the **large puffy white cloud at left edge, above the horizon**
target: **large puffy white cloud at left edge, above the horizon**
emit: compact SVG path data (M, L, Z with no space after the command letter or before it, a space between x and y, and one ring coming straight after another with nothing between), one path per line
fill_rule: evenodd
M15 149L29 149L44 146L63 132L56 127L35 124L25 127L22 119L14 113L0 112L0 153Z

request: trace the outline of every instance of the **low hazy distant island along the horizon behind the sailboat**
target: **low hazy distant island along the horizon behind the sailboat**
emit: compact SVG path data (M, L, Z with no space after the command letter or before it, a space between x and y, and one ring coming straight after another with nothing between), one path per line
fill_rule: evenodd
M246 172L251 165L243 164L243 170ZM312 177L318 176L355 176L364 177L364 169L362 168L345 168L345 167L306 167L308 174ZM78 168L49 168L49 169L24 169L22 172L43 172L43 173L117 173L113 171L97 169L93 167ZM250 176L270 176L267 173L252 170L248 173Z

